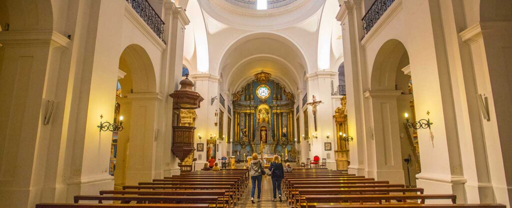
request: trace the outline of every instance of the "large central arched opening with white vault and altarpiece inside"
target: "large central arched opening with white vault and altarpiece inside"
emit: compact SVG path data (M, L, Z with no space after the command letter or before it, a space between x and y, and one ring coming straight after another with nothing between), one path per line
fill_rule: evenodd
M294 115L299 109L296 97L302 96L297 94L298 90L305 86L306 67L303 52L279 34L249 34L226 49L219 66L219 74L223 76L220 89L231 94L227 103L233 107L232 121L228 118L230 127L227 128L233 129L229 136L233 142L228 149L237 160L243 161L244 155L251 153L278 154L290 161L299 159L297 153L304 151L294 143L295 139L300 139ZM265 93L265 90L270 97L259 96L258 93ZM272 106L266 122L258 119L257 108L262 104ZM244 105L250 106L252 113L245 112ZM276 109L280 112L274 112ZM265 135L265 142L262 142L262 135ZM260 145L252 147L248 142Z

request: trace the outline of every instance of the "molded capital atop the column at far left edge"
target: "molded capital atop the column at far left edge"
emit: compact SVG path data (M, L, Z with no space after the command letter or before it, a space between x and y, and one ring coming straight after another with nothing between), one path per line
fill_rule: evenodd
M71 40L54 30L25 30L0 32L0 44L4 47L51 47L66 50Z

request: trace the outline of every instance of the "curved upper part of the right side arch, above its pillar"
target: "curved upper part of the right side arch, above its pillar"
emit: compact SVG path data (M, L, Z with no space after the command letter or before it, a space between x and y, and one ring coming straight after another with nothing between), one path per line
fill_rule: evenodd
M371 90L395 90L397 69L409 65L406 47L397 39L382 44L372 67Z

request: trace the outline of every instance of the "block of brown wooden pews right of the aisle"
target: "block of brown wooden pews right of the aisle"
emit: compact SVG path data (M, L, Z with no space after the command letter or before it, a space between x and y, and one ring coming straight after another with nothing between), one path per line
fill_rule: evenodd
M505 207L502 204L456 204L453 194L424 194L421 188L375 180L341 171L301 169L285 173L284 194L292 207ZM452 203L425 204L425 200Z

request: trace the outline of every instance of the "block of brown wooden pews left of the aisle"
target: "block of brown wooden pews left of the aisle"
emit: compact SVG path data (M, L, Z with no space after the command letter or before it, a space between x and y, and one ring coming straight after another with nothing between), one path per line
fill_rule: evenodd
M247 170L188 172L153 179L151 182L139 182L138 185L125 185L122 190L102 190L98 195L78 195L74 197L74 203L40 203L36 208L230 208L240 200L248 185L248 178Z

